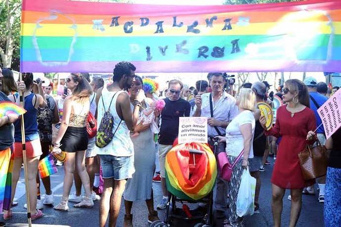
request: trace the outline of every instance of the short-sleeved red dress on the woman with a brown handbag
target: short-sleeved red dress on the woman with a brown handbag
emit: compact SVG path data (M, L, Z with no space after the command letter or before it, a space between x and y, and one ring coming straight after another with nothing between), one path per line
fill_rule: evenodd
M316 129L316 118L308 107L291 117L286 107L283 105L277 109L275 126L265 132L267 136L282 136L271 182L282 188L300 189L315 182L304 180L298 153L305 148L308 132Z

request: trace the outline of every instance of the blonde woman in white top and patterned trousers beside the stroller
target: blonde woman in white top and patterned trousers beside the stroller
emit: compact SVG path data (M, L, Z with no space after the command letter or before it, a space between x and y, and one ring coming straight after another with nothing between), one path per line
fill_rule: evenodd
M243 226L243 218L238 217L236 213L236 201L243 170L247 169L249 159L254 157L252 141L256 124L253 114L256 106L256 94L251 89L241 89L236 99L236 105L239 108L239 113L226 127L226 136L217 136L219 142L226 141L226 154L229 162L231 164L237 162L233 167L228 186L230 206L227 226L233 227ZM242 155L238 158L240 154Z

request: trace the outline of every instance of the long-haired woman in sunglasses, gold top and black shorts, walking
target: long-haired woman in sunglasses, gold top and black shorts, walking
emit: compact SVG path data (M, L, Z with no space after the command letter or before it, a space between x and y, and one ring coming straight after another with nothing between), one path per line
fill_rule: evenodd
M85 198L74 207L93 206L89 176L85 169L85 150L87 149L86 119L90 109L89 96L92 88L80 73L71 73L66 79L67 88L72 95L65 98L63 106L63 120L58 136L55 139L53 151L65 151L67 154L64 162L64 185L61 202L54 206L55 210L68 211L68 197L73 183L75 168L85 188ZM60 147L60 148L59 148Z

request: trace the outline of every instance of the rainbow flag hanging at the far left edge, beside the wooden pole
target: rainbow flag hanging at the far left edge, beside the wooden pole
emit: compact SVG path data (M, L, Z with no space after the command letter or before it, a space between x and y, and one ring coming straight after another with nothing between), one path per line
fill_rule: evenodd
M0 211L9 210L11 207L12 168L10 148L0 151Z

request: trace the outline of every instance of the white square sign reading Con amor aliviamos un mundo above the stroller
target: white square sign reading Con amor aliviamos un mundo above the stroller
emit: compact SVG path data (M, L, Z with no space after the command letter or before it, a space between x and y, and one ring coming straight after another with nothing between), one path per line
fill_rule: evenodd
M206 117L180 117L178 143L207 143Z

